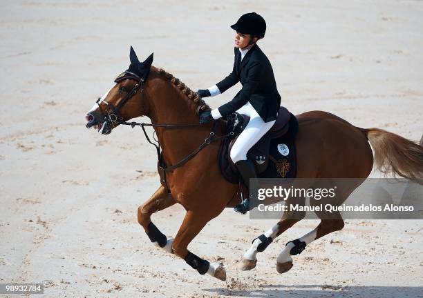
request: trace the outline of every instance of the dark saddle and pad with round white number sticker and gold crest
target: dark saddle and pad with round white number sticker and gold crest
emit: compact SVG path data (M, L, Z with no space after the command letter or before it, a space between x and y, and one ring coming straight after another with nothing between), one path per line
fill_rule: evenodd
M220 172L230 183L237 184L240 175L229 152L240 133L247 126L250 117L234 113L227 119L227 134L220 144L218 161ZM247 159L253 161L257 177L294 178L297 175L297 152L295 137L298 132L297 118L286 108L280 107L272 128L247 152Z

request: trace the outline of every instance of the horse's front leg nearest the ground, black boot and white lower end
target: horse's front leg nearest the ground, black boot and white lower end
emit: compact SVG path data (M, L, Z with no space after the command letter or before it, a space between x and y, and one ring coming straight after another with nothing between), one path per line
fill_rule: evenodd
M198 235L209 220L209 218L204 216L204 212L187 211L187 215L185 215L185 219L173 241L172 250L175 255L185 259L187 264L196 269L200 275L207 273L212 275L212 277L225 281L226 271L223 264L210 264L209 261L201 259L187 249L192 239Z

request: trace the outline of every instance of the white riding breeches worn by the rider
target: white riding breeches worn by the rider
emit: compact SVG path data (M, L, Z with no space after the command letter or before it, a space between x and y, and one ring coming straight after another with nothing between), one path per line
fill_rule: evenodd
M241 132L241 135L238 136L238 139L236 139L234 146L232 146L230 156L234 163L247 159L248 150L250 150L250 148L252 148L270 128L272 128L276 121L263 121L250 102L247 102L244 106L236 110L236 112L250 116L250 121L243 132Z

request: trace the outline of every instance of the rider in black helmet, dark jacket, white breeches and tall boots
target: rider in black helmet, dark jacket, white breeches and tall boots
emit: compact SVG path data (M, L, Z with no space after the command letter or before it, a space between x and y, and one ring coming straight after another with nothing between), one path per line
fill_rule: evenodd
M233 112L250 116L250 121L232 146L230 157L248 189L248 197L234 210L245 214L250 210L250 178L256 178L254 163L247 160L247 152L272 128L281 105L281 96L269 59L256 42L265 36L266 23L256 12L243 14L231 26L235 34L235 61L232 73L208 89L197 91L200 97L219 95L241 81L243 88L232 101L200 114L200 123L226 117ZM238 48L238 50L237 50Z

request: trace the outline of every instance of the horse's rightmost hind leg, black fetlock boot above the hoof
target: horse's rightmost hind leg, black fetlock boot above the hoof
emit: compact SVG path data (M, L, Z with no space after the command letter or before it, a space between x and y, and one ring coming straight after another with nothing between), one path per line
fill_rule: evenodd
M344 220L339 212L316 212L321 218L319 226L308 232L301 238L289 241L285 249L276 259L276 270L279 273L288 272L292 268L292 255L299 255L312 241L328 235L331 232L342 230L344 228ZM324 217L322 216L324 215Z

